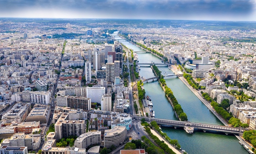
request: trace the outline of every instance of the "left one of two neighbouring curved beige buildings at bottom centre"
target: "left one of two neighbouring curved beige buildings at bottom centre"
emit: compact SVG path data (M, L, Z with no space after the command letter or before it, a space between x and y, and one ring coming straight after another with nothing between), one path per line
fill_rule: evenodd
M74 147L86 149L90 145L101 143L101 132L87 132L80 135L74 143Z

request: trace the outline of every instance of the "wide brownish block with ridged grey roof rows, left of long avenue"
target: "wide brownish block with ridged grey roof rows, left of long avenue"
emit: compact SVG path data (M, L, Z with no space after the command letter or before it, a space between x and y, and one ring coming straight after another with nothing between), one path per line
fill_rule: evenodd
M26 122L40 121L43 125L47 125L51 116L51 106L43 104L35 104L26 118Z

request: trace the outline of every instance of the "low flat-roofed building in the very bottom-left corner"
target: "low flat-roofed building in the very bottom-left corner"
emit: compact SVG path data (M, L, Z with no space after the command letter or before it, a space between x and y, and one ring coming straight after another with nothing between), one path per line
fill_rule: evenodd
M0 148L1 154L27 154L28 148L25 146L17 147L17 146L6 146L3 145Z

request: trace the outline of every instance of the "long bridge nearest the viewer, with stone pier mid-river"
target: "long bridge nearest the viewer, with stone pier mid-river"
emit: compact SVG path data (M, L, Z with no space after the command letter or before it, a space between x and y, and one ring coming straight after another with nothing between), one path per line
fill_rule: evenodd
M177 120L167 120L167 119L158 119L158 118L147 118L147 117L139 117L139 116L132 116L132 118L136 119L142 119L145 118L147 121L156 121L158 124L163 125L172 125L176 127L190 127L190 128L196 128L199 130L203 130L206 132L206 130L210 131L219 131L223 132L226 135L233 133L233 134L243 134L243 130L241 128L235 128L235 127L228 127L228 126L222 126L222 125L212 125L212 124L205 124L205 123L192 123L189 121L177 121ZM193 133L193 131L192 131Z

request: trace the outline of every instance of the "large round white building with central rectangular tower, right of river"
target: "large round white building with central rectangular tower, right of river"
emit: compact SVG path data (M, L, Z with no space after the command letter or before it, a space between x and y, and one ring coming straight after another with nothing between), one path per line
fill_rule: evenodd
M215 67L215 63L209 61L209 57L202 57L202 60L190 59L188 62L185 63L185 67L191 70L209 70Z

